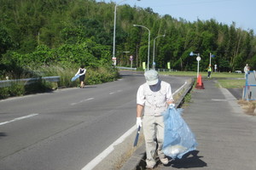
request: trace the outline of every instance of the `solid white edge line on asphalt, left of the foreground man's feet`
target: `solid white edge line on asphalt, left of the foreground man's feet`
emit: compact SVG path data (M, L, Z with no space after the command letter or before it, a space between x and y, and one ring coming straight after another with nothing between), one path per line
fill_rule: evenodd
M131 133L134 133L134 131L136 130L137 130L137 125L131 127L125 134L123 134L119 139L114 141L113 144L109 145L106 150L103 150L100 155L96 156L81 170L90 170L96 167L96 165L99 164L99 162L101 162L105 157L107 157L114 150L115 145L122 143L125 140L125 138L130 136Z

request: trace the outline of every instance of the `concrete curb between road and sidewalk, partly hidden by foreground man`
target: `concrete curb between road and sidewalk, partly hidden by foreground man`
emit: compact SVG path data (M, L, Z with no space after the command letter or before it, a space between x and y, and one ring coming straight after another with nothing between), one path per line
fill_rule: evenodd
M195 82L194 78L191 78L190 81L184 86L184 88L180 89L182 92L181 96L178 98L176 102L176 108L179 108L183 105L184 97L186 94L189 94L190 90L193 88L193 84ZM180 94L179 92L177 95ZM145 144L143 143L141 146L134 151L132 156L125 162L125 165L120 168L120 170L142 170L146 167L146 152L145 152Z

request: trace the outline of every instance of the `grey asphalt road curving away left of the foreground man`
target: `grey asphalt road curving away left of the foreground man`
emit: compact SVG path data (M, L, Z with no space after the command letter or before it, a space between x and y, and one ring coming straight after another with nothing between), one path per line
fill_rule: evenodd
M172 92L186 77L161 77ZM0 170L82 169L134 126L142 74L0 101Z

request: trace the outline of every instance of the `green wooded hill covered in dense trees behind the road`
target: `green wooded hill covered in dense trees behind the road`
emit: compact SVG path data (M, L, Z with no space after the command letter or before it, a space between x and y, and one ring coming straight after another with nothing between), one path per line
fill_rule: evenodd
M1 70L27 65L111 65L114 3L0 0L0 4ZM196 56L189 56L191 51L201 54L201 71L206 71L210 53L216 56L212 65L218 65L218 71L242 70L246 63L256 68L253 30L213 19L177 20L156 14L152 8L129 5L119 5L117 10L117 65L130 65L130 55L134 66L147 62L148 31L134 24L151 32L150 67L154 38L166 33L155 41L156 68L166 68L171 62L172 69L196 71Z

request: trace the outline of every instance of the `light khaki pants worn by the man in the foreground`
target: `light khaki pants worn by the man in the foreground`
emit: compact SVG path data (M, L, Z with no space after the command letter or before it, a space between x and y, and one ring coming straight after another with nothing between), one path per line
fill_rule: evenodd
M147 165L154 165L154 154L156 151L156 142L154 139L157 139L158 148L157 154L160 159L165 158L165 155L162 151L163 141L164 141L164 118L163 116L143 116L143 133L146 144L146 154L147 154Z

